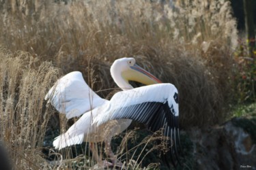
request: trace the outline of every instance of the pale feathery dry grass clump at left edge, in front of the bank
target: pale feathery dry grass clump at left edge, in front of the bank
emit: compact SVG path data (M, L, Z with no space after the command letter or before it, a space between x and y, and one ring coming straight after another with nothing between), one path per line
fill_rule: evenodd
M52 111L44 107L49 82L59 75L50 63L33 67L27 52L0 51L0 131L15 169L40 169L42 142Z

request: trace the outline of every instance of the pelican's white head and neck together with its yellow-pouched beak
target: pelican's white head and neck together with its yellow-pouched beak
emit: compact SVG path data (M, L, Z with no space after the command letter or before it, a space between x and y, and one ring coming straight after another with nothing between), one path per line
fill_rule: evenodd
M154 75L136 64L134 58L119 58L111 66L111 76L117 86L123 90L131 89L128 81L140 82L145 85L162 83Z

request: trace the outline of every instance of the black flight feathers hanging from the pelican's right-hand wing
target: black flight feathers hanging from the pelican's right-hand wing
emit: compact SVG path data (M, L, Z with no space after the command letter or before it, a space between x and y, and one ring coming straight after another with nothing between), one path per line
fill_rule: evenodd
M122 113L122 114L120 114ZM162 161L168 166L171 163L174 167L180 163L177 145L180 147L180 137L178 129L178 116L175 116L173 105L169 107L168 102L145 102L136 105L130 105L115 109L111 115L111 120L114 119L131 119L147 125L151 131L159 131L164 128L164 135L169 137L167 139L167 147L169 151L162 154ZM177 139L177 141L176 141Z

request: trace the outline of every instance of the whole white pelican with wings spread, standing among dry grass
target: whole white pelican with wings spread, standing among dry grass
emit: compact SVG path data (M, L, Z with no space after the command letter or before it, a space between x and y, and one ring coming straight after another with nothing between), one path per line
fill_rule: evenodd
M102 160L94 152L94 143L104 141L106 155L112 161L110 164L116 165L111 138L126 130L132 120L136 120L153 132L164 129L169 152L163 154L163 158L169 165L169 155L175 166L179 162L177 146L180 146L177 88L173 84L162 83L139 67L134 58L115 60L110 71L117 86L123 90L115 93L110 101L91 90L79 71L63 76L48 91L45 100L60 113L66 114L66 118L82 115L66 133L55 138L55 149L61 150L87 141L96 161L100 163ZM128 81L148 86L132 88Z

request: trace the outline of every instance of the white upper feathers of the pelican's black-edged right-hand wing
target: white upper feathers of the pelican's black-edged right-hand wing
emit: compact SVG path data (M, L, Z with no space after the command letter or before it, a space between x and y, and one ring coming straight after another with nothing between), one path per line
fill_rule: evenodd
M139 88L133 88L130 90L125 90L115 93L112 99L105 105L105 111L100 113L100 116L94 118L94 123L97 126L111 120L113 111L116 109L121 109L128 107L130 105L138 105L145 102L160 102L164 103L168 101L170 104L175 103L173 97L170 94L177 92L177 88L173 84L162 83L162 84L152 84L149 86L141 86ZM178 104L173 104L173 109L175 111L175 116L179 115ZM137 112L137 110L134 110ZM123 112L119 112L119 116L122 117Z

